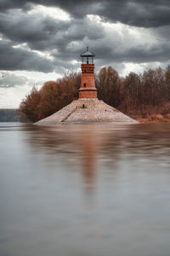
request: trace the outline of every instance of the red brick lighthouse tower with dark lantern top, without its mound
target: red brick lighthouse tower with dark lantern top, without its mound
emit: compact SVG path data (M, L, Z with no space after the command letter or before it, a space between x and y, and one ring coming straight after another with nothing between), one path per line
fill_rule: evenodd
M97 89L94 82L94 53L88 51L83 52L82 55L82 83L79 90L79 98L94 98L97 96Z

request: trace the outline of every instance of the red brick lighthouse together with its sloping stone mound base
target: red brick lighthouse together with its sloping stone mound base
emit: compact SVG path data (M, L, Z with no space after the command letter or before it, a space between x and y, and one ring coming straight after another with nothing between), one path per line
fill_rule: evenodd
M94 80L94 53L88 50L82 52L82 81L79 89L79 98L69 105L45 119L39 120L36 125L55 125L59 123L138 123L126 114L107 105L98 99Z

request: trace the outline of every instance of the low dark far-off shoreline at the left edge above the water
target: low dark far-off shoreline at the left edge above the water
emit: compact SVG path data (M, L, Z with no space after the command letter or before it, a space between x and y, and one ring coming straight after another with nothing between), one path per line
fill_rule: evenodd
M0 122L19 122L20 114L16 109L0 109Z

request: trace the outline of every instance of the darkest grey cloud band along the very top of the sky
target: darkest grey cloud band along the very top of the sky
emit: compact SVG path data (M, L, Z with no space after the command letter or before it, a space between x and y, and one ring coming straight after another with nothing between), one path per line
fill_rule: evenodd
M31 8L31 3L57 6L74 18L100 15L106 20L120 21L131 26L156 27L170 25L169 0L1 0L0 9Z

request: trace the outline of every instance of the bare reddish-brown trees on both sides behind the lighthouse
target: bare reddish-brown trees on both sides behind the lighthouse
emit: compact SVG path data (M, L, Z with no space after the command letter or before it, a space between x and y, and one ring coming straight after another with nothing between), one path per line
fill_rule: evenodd
M170 113L170 67L129 73L122 78L112 67L103 67L95 75L98 98L132 116L150 117ZM56 82L46 82L40 90L34 87L20 103L22 118L35 122L55 113L78 98L81 73L70 73Z

